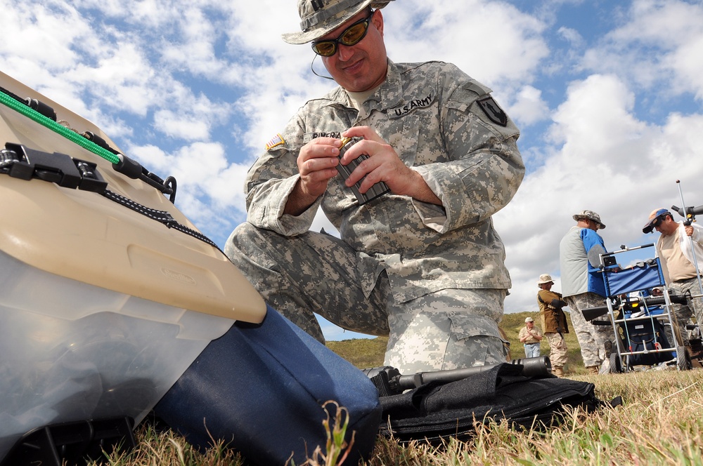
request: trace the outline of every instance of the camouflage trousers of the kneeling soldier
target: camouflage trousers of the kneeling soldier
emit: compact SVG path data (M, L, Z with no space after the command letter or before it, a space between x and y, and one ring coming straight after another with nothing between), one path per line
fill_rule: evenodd
M368 335L388 335L384 364L403 374L497 364L505 290L445 289L395 302L385 271L370 295L356 277L357 254L337 237L284 237L238 226L225 253L273 309L324 342L315 314Z

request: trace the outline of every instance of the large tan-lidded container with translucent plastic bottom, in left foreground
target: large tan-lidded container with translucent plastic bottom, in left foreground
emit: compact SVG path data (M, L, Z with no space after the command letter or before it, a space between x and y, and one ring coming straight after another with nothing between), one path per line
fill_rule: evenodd
M1 72L0 86L117 149ZM111 192L195 229L154 187L0 105L7 143L49 163L52 154L91 162ZM236 320L264 319L264 300L218 248L108 197L0 173L0 199L0 460L37 427L122 416L138 424L211 340Z

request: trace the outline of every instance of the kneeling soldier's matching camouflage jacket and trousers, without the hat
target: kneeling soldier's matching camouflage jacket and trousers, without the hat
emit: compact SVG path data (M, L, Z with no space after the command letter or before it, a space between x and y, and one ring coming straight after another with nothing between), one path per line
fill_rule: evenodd
M390 331L390 352L415 337L394 329L414 318L390 317L394 312L389 309L422 314L440 295L456 293L456 309L437 305L427 315L445 314L443 319L452 324L444 327L451 327L455 337L479 341L487 336L495 340L491 354L498 346L502 352L497 322L503 298L496 296L504 297L510 277L491 215L515 195L524 165L516 145L519 131L512 121L506 117L505 126L501 124L502 110L495 102L491 112L477 104L489 92L448 63L389 62L387 80L360 110L342 88L307 102L280 133L285 142L259 157L247 176L247 220L269 232L241 225L225 252L274 308L296 324L302 322L318 339L321 332L311 312L330 315L335 324L363 333ZM299 178L300 148L319 136L339 138L352 126L373 128L406 165L423 175L443 206L392 193L359 206L344 180L336 177L302 215L284 215ZM339 229L341 240L308 232L318 206ZM271 232L288 241L273 241ZM277 279L285 279L285 284L276 284ZM319 289L335 296L324 303L308 298L319 295ZM462 301L465 291L482 298ZM434 298L420 299L427 295ZM291 317L298 314L308 317ZM418 334L422 332L418 328ZM425 356L413 353L412 359ZM432 364L472 366L485 359L484 351L472 360L437 357Z

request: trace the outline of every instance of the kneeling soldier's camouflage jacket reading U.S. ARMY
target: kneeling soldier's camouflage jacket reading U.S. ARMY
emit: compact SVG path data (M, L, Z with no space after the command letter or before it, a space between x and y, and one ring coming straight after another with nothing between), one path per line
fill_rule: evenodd
M247 220L283 235L307 232L318 206L357 255L367 295L385 269L396 302L444 288L510 288L505 249L491 215L508 204L524 176L517 127L491 90L444 62L389 62L386 81L360 111L338 87L310 100L247 175ZM299 175L296 158L310 140L370 126L443 205L392 193L359 206L336 177L297 217L283 208Z

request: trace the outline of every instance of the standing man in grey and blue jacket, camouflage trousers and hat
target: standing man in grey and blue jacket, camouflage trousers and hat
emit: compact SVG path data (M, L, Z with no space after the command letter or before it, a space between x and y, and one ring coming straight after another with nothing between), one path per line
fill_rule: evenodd
M605 342L614 338L612 327L596 326L586 321L583 309L605 303L605 284L600 267L600 254L607 252L598 234L604 229L600 215L582 211L573 215L576 225L569 229L559 244L562 294L571 309L572 326L581 347L581 358L591 374L598 374L605 358Z

